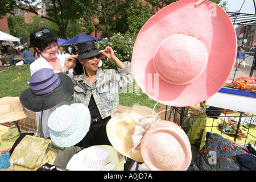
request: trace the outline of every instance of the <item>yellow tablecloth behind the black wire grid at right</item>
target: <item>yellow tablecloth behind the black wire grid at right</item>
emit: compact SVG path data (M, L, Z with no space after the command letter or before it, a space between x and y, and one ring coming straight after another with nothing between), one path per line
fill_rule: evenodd
M231 114L231 115L239 116L240 114L238 113L238 114ZM227 117L228 116L229 115L227 115ZM227 117L225 118L225 121L227 121L226 120L226 119L228 119ZM234 140L234 137L230 137L229 135L221 133L221 131L218 129L218 125L220 123L222 123L221 119L213 119L213 118L208 118L208 117L197 118L195 120L195 122L193 123L191 129L189 129L189 131L187 133L190 142L193 143L196 140L200 139L200 141L201 141L200 149L201 149L205 144L205 140L206 140L205 136L206 136L207 132L216 133L216 134L221 135L224 138ZM245 127L240 126L240 129L241 129L242 133L247 135L247 138L241 138L241 140L236 138L236 142L237 143L253 143L254 144L255 138L256 138L256 129L253 127L250 127L250 129L248 131L247 129L243 130L242 128L245 129Z

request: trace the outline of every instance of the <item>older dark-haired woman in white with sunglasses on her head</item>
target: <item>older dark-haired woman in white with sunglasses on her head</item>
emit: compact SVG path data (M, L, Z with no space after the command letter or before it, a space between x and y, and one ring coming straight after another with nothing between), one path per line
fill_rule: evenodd
M71 69L68 76L72 77L72 68L70 65L65 65L66 63L73 63L74 60L76 60L78 55L58 55L57 54L57 36L49 31L47 28L42 28L40 30L34 30L30 34L30 42L31 45L34 47L35 51L39 53L39 58L36 59L33 63L30 65L30 72L31 75L33 75L34 72L38 71L42 68L49 68L53 69L55 73L59 72L68 72L68 69ZM76 63L76 61L75 61ZM75 66L75 64L73 64ZM52 108L53 109L53 108ZM36 121L42 120L42 132L43 137L48 138L49 137L49 127L47 125L49 114L51 113L51 110L45 110L42 112L36 113ZM37 122L39 123L39 122ZM39 125L38 125L39 126Z

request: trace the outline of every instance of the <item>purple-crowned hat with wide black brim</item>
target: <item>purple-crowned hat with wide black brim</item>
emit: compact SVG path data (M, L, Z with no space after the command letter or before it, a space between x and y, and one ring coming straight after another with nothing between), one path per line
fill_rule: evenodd
M54 73L53 69L36 71L28 82L30 88L20 93L20 103L35 112L56 106L74 93L71 78L64 73Z

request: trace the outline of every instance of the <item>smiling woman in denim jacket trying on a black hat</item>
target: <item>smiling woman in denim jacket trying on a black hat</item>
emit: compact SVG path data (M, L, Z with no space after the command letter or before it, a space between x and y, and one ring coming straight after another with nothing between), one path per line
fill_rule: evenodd
M89 132L79 146L87 148L101 144L111 145L106 134L106 124L111 114L118 109L118 93L134 82L130 62L122 63L111 47L97 51L93 40L78 43L77 47L79 56L72 78L75 93L71 102L88 106L92 118ZM98 67L100 59L105 56L117 64L118 71ZM72 64L74 65L72 61L66 63L67 68Z

